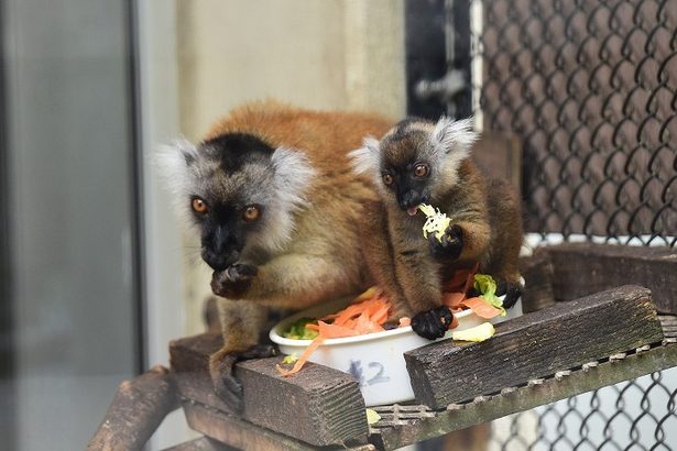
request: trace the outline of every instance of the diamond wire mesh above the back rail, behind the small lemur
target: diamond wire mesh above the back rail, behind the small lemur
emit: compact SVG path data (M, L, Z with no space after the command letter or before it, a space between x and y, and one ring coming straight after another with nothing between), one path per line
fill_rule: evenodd
M482 6L482 125L523 140L527 230L675 245L677 2Z

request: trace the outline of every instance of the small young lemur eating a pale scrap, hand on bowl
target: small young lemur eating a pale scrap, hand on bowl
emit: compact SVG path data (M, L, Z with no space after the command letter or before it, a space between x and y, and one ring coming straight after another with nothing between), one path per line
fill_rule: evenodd
M444 336L452 319L443 286L456 270L479 263L506 293L505 307L521 293L520 200L507 182L479 172L470 158L474 141L470 120L405 119L351 153L356 172L371 175L381 194L363 222L370 272L395 305L395 318L412 316L414 331L428 339ZM424 239L421 204L451 218L441 241Z

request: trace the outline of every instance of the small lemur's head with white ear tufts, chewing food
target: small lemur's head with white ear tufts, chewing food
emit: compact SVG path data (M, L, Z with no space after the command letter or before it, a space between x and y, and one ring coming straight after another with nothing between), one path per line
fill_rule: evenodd
M381 141L365 138L350 156L356 172L373 176L385 201L414 215L418 205L435 202L456 185L476 139L472 119L405 119Z

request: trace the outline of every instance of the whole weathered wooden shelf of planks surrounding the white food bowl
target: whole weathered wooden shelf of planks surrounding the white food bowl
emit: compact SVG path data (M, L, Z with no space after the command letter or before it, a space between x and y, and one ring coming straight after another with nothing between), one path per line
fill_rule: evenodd
M677 366L676 266L670 250L539 250L522 270L531 312L498 324L481 343L446 340L405 353L416 400L375 407L382 419L371 427L351 375L308 364L285 378L274 370L280 358L237 365L238 415L215 395L207 372L219 337L174 341L178 399L189 426L206 436L174 449L390 450ZM636 285L619 286L625 283Z

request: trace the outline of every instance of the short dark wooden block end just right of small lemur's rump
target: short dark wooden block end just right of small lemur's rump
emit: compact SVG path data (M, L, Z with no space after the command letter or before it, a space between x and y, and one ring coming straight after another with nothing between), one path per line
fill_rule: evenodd
M555 304L553 294L554 270L547 252L537 252L520 258L520 272L524 277L522 311L531 314Z

